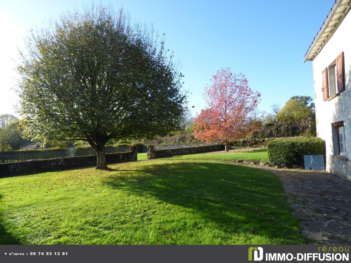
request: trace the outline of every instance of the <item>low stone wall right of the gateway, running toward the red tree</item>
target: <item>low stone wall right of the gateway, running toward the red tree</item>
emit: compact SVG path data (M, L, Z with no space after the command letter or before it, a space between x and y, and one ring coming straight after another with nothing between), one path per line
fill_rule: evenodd
M193 154L201 152L213 152L213 151L223 151L224 145L208 145L190 148L180 148L180 149L170 149L170 150L159 150L155 151L153 145L147 146L147 159L163 158L167 156L178 156L184 154Z

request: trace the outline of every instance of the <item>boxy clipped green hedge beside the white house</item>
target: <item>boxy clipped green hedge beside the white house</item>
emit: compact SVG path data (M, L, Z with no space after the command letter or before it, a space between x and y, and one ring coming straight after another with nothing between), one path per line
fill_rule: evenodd
M325 141L320 138L286 138L267 142L269 161L273 165L304 166L304 155L325 154Z

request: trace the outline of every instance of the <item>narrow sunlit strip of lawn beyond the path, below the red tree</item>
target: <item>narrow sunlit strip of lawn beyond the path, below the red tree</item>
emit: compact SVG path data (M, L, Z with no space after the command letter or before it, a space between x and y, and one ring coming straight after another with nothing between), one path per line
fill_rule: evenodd
M138 155L139 159L139 155ZM237 161L237 160L252 160L268 162L267 148L254 148L254 149L240 149L230 150L229 152L209 152L198 154L187 154L181 156L173 156L172 159L181 160L224 160L224 161Z

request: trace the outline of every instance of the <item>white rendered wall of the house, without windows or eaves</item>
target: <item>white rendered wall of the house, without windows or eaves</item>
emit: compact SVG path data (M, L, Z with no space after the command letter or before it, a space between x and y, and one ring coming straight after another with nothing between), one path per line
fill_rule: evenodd
M336 32L314 58L313 78L314 96L316 99L317 137L326 143L326 170L351 180L351 13L347 14ZM322 70L328 67L344 52L345 90L339 96L323 101ZM344 121L346 157L338 159L338 142L336 128L332 123ZM333 136L334 135L334 136Z

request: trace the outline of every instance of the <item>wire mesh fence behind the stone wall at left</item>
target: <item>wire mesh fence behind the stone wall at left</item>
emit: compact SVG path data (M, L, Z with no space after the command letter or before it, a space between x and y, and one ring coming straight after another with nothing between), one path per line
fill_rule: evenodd
M119 153L131 151L129 146L106 147L106 153ZM23 152L0 154L0 163L23 162L27 160L43 160L52 158L62 158L68 156L85 156L96 154L94 149L75 149L73 154L67 151L47 151L47 152Z

